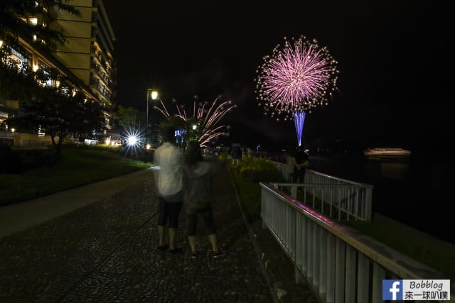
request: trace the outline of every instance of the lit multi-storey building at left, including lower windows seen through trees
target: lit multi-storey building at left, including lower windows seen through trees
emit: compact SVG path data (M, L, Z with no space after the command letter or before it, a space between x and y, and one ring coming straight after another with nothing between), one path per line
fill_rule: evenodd
M27 39L19 38L20 47L11 48L11 59L18 67L28 65L33 70L51 67L63 75L78 79L80 87L77 89L82 89L87 99L99 102L105 108L106 126L109 129L116 84L114 31L102 0L72 0L68 4L80 12L79 16L49 7L45 8L48 13L43 16L23 18L33 25L49 26L63 32L65 43L51 48L50 53L40 53ZM8 47L2 42L0 37L0 47ZM55 84L49 80L43 85ZM0 94L0 123L16 114L18 107L18 100Z

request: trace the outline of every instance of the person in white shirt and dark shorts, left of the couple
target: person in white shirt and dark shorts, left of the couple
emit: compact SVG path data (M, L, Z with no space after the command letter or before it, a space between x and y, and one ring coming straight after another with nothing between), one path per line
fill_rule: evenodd
M183 153L176 146L174 131L171 126L162 129L164 143L155 150L154 163L159 165L156 171L156 185L159 192L158 234L159 250L166 250L164 241L166 224L168 224L169 253L181 253L176 247L178 216L183 204Z

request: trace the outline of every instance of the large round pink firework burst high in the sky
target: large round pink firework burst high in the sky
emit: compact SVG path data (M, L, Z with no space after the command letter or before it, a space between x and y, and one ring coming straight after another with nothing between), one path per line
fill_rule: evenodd
M256 94L264 114L284 120L296 111L328 104L336 90L338 62L317 40L301 36L277 45L257 69Z

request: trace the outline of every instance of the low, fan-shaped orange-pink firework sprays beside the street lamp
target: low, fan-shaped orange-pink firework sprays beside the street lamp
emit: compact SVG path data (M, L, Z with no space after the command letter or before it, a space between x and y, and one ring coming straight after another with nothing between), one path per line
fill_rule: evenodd
M188 116L186 114L185 106L176 104L176 116L183 121L188 121ZM208 147L209 143L213 142L215 138L220 136L229 136L229 126L218 125L220 120L237 107L237 105L232 104L232 101L221 101L221 96L215 98L215 100L210 104L209 102L198 102L198 97L194 96L193 101L193 118L197 121L197 128L200 129L200 136L198 138L198 143L200 147ZM155 109L163 114L166 118L169 118L168 109L164 105L163 101L160 100L159 106L155 106ZM190 117L191 119L191 117Z

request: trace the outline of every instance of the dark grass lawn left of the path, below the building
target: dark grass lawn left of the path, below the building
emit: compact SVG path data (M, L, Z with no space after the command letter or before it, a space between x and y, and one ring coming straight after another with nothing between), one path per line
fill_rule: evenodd
M63 146L53 165L0 174L0 205L20 202L150 167L106 148Z

